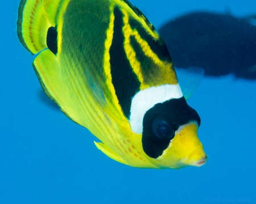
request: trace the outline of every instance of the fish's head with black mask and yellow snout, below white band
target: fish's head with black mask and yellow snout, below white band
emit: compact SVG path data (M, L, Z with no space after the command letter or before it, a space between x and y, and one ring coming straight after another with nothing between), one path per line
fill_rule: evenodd
M200 167L207 161L197 136L200 122L184 98L156 104L143 119L144 152L159 168Z

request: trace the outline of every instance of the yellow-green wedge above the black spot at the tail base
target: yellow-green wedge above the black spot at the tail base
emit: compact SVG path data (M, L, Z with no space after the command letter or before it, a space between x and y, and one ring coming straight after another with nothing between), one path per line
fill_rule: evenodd
M42 0L44 12L47 14L47 18L53 27L56 25L56 15L61 0Z

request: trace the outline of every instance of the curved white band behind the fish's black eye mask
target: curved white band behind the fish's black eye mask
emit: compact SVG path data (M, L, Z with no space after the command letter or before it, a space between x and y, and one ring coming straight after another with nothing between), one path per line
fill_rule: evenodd
M131 100L130 125L134 133L141 134L143 117L155 104L183 97L179 84L166 84L139 91Z

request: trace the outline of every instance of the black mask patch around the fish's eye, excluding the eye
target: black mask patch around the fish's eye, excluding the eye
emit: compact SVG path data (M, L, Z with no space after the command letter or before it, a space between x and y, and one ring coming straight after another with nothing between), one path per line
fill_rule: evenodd
M155 117L164 118L174 131L188 122L196 121L199 126L201 122L197 112L189 107L184 97L156 104L149 109L143 118L142 146L144 152L151 158L162 155L170 143L170 138L159 139L154 135L152 121Z

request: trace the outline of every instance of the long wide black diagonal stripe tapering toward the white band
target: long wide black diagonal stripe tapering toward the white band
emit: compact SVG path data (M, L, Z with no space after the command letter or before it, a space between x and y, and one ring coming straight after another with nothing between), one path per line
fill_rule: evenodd
M119 104L122 111L128 118L131 107L131 98L139 91L139 81L137 75L133 73L130 62L126 57L123 42L123 14L118 7L114 8L114 34L110 47L110 65L112 83L115 88Z

